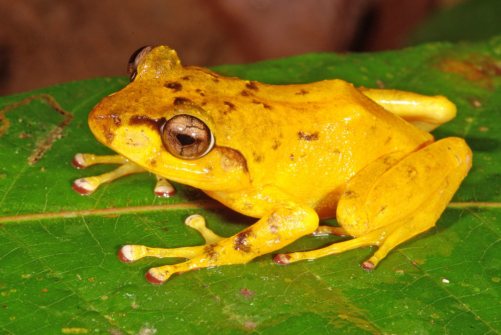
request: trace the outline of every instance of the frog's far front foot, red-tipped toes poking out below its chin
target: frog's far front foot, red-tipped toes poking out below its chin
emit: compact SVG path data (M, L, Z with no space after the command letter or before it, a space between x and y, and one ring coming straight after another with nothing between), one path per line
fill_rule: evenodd
M78 169L87 168L94 164L120 164L117 169L108 173L77 179L73 183L73 190L84 195L91 194L103 183L112 182L128 175L147 172L141 166L118 154L95 155L91 153L77 153L72 160L72 164ZM158 197L171 197L176 193L176 190L165 178L158 175L155 176L157 183L153 192Z

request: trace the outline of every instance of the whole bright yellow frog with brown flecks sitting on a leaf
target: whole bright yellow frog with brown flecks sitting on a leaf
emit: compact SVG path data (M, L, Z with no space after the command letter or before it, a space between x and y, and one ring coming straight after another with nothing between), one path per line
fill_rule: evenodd
M256 218L222 237L200 215L185 224L204 245L124 245L124 262L184 258L150 268L162 284L173 274L244 264L305 235L347 239L309 251L274 254L286 265L360 247L376 247L361 269L373 270L397 245L433 227L471 168L459 137L429 133L456 115L441 95L355 87L341 79L271 85L183 66L167 46L148 46L128 63L130 83L90 112L98 141L117 155L79 153L74 165L120 164L75 182L82 194L125 175L148 171L155 193L185 184L225 207ZM338 226L320 225L336 218ZM287 251L287 250L286 250Z

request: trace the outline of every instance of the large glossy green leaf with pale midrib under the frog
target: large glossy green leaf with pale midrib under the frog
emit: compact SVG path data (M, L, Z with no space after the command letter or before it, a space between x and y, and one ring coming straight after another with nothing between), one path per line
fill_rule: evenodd
M71 189L74 180L113 168L77 170L70 162L77 152L111 153L91 134L87 115L125 78L0 98L0 333L500 333L500 68L501 38L214 68L272 84L341 78L445 95L458 115L434 135L465 138L473 167L436 226L399 245L372 272L360 266L374 252L364 248L287 266L264 255L159 286L145 272L179 260L125 264L118 249L202 244L182 223L195 213L223 236L254 219L179 184L175 197L156 198L148 173L90 196ZM340 239L305 236L284 251Z

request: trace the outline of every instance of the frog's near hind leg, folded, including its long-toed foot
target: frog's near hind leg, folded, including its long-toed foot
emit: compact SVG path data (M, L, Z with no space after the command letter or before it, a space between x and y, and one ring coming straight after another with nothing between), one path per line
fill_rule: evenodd
M276 261L315 259L375 245L379 249L364 262L364 268L372 269L396 245L435 225L470 167L471 151L464 140L455 137L411 154L381 157L350 180L338 203L338 222L355 239L279 255Z

